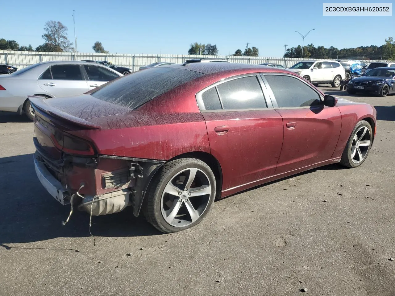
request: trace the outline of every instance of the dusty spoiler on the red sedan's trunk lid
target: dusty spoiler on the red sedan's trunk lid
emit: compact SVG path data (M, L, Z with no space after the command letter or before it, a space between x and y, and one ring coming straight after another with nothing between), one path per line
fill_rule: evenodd
M92 122L88 122L87 120L83 120L81 118L72 116L66 112L60 111L59 109L56 109L54 107L51 107L45 103L45 98L44 97L39 97L39 96L28 96L28 99L30 100L30 103L33 107L33 109L36 109L39 112L44 112L47 113L56 119L60 119L63 121L67 121L70 124L73 124L75 126L83 127L85 129L100 129L101 126L98 126L97 124L93 124Z

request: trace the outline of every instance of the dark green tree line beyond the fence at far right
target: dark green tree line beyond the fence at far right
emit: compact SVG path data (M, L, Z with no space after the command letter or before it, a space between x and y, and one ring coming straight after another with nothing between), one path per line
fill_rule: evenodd
M300 58L302 47L288 48L284 58ZM363 60L394 60L395 41L393 37L388 37L386 43L381 46L359 46L356 48L337 49L336 47L326 48L324 46L315 47L313 44L303 47L303 58L331 58L331 59L363 59Z

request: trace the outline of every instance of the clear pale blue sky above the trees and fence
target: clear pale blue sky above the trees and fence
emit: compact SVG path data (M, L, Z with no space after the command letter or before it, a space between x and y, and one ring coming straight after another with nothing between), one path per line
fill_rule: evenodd
M94 42L101 41L111 53L186 54L196 41L216 44L219 54L227 55L236 49L243 51L249 42L250 47L258 47L260 56L282 56L285 44L302 43L294 31L306 34L314 28L305 45L341 49L380 46L394 36L395 26L393 16L324 17L322 1L317 0L19 0L1 6L10 17L1 25L0 38L33 48L44 43L41 35L49 20L66 25L73 42L74 9L79 52L93 52Z

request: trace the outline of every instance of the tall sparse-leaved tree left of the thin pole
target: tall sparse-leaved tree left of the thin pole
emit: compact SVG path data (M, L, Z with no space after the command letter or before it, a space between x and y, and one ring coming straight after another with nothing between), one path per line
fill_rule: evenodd
M54 51L71 51L73 48L67 38L67 27L61 22L47 21L44 27L45 34L42 35L45 43L53 45Z

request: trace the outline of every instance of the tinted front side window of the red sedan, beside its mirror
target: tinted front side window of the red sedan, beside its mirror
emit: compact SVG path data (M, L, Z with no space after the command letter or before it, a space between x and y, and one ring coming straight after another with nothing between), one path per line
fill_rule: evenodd
M310 86L286 75L265 75L278 107L307 107L318 105L320 96Z

